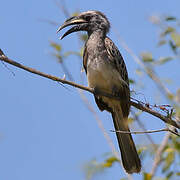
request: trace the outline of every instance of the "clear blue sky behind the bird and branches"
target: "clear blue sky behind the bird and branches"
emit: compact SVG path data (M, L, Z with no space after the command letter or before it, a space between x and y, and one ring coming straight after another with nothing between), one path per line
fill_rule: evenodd
M0 6L0 48L4 53L27 66L63 77L61 67L50 55L52 49L49 46L51 40L60 41L56 34L58 26L41 21L49 19L59 25L63 23L65 17L55 1L2 0ZM155 46L158 31L148 18L152 14L179 16L180 2L67 0L66 6L71 13L92 9L104 12L112 27L118 29L136 54L148 50L158 57L164 55L164 51ZM120 47L115 32L111 31L109 36L121 50L129 76L133 77L137 65ZM60 43L64 51L79 47L75 34ZM67 61L73 67L71 72L78 82L79 60L71 56ZM0 179L83 180L83 164L94 157L102 157L103 153L110 152L110 148L77 91L71 87L67 90L55 82L7 66L15 77L0 63ZM166 67L163 73L167 72ZM175 73L173 71L172 75ZM146 82L149 85L143 93L154 102L151 99L156 94L156 91L152 93L154 85L148 79ZM113 128L110 115L99 112L93 97L88 95L88 98L116 144L115 134L109 131ZM160 121L149 115L144 115L144 118L149 129L163 127ZM161 135L154 137L158 137L159 141L162 138ZM135 139L144 140L142 135ZM117 165L97 179L119 179L123 176L121 167ZM138 179L138 176L135 178Z

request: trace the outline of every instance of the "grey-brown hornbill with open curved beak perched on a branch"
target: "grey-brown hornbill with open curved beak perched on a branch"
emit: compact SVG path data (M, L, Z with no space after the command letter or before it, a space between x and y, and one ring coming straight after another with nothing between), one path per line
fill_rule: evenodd
M72 32L87 31L83 65L88 78L88 85L95 90L95 101L101 111L112 114L116 131L129 131L128 115L130 110L130 90L128 73L124 60L112 40L106 36L110 23L99 11L87 11L67 19L58 31L75 25L62 37ZM120 100L101 96L98 92L111 93ZM131 134L116 132L122 162L128 173L138 173L141 162Z

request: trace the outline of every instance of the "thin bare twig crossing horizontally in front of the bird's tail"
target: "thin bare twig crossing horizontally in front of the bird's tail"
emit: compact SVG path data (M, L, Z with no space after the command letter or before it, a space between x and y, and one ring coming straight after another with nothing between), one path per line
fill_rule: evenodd
M145 133L155 133L155 132L162 132L162 131L169 131L180 137L180 134L170 130L169 128L151 130L151 131L115 131L115 130L111 130L111 132L118 132L118 133L122 133L122 134L145 134Z

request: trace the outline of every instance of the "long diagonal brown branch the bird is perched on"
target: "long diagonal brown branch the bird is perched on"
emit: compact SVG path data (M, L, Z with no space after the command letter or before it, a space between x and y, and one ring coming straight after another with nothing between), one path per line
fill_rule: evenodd
M38 70L36 70L36 69L33 69L33 68L30 68L30 67L24 66L24 65L22 65L22 64L20 64L20 63L18 63L18 62L16 62L16 61L14 61L14 60L12 60L12 59L9 59L7 56L4 55L4 53L3 53L3 51L2 51L1 49L0 49L0 60L1 60L1 61L4 61L4 62L6 62L6 63L9 63L9 64L11 64L11 65L13 65L13 66L16 66L16 67L18 67L18 68L24 69L25 71L28 71L28 72L30 72L30 73L37 74L37 75L39 75L39 76L45 77L45 78L47 78L47 79L51 79L51 80L53 80L53 81L61 82L61 83L63 83L63 84L68 84L68 85L70 85L70 86L73 86L73 87L76 87L76 88L79 88L79 89L83 89L83 90L88 91L88 92L90 92L90 93L92 93L92 94L95 94L95 91L94 91L94 89L92 89L92 88L85 87L85 86L76 84L76 83L74 83L74 82L72 82L72 81L67 81L67 80L65 80L65 79L61 79L61 78L58 78L58 77L56 77L56 76L52 76L52 75L50 75L50 74L46 74L46 73L40 72L40 71L38 71ZM100 92L99 95L120 100L119 97L113 96L112 94L108 94L108 93L105 93L105 92ZM178 124L176 121L172 120L170 117L164 116L164 115L158 113L157 111L154 111L154 110L152 110L151 108L149 108L149 107L147 107L147 106L145 106L145 105L143 105L143 104L141 104L141 103L134 102L134 101L132 101L132 100L130 101L130 104L131 104L132 106L136 107L137 109L140 109L140 110L142 110L142 111L145 111L145 112L147 112L147 113L149 113L149 114L151 114L151 115L153 115L153 116L156 116L156 117L158 117L159 119L161 119L162 121L164 121L165 123L170 124L170 125L178 128L178 129L180 129L180 124Z

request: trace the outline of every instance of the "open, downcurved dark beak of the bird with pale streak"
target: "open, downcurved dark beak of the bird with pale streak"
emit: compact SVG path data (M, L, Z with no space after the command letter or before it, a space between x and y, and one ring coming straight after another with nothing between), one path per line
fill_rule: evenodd
M71 18L67 19L64 22L64 24L58 28L57 33L59 31L61 31L62 29L64 29L65 27L70 26L70 25L77 25L77 26L73 26L71 29L69 29L63 36L60 37L60 39L63 39L65 36L67 36L70 33L83 30L82 27L84 25L87 25L87 21L78 16L71 17Z

